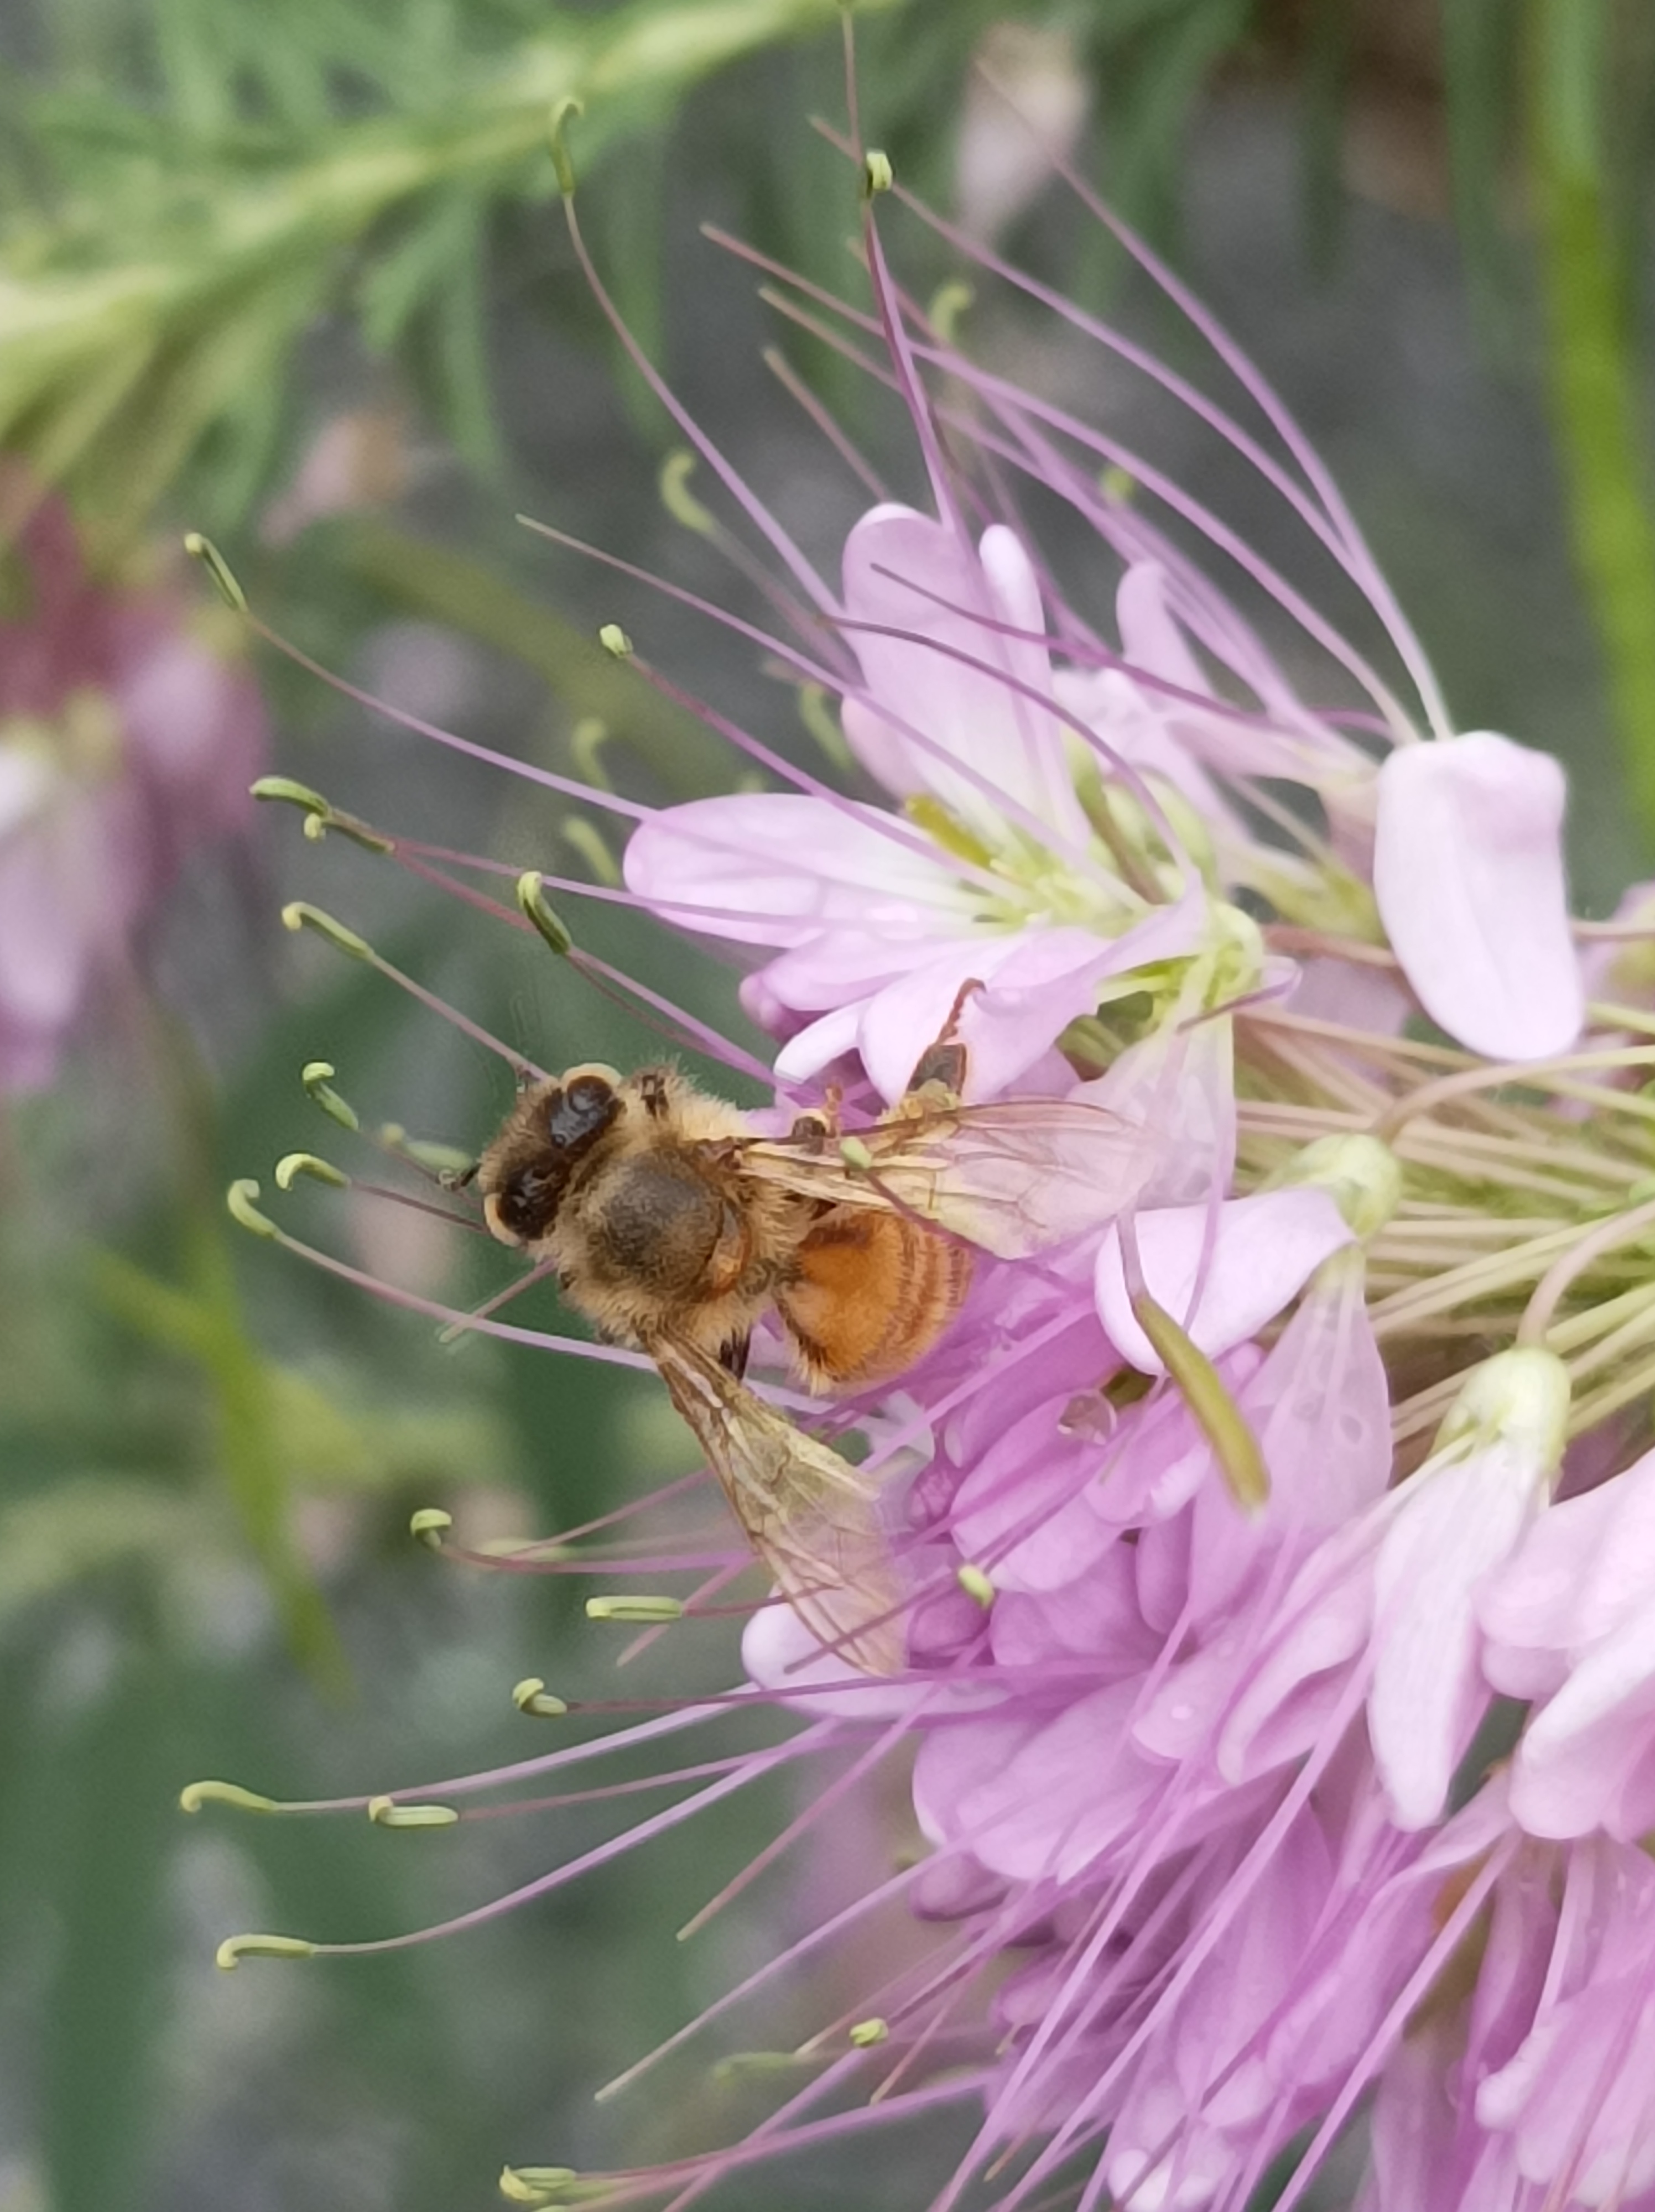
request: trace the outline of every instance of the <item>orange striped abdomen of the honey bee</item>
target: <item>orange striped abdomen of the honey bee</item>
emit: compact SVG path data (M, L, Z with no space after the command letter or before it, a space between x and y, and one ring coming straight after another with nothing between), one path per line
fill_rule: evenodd
M812 1389L881 1383L929 1352L971 1285L971 1254L905 1214L836 1206L799 1245L777 1312Z

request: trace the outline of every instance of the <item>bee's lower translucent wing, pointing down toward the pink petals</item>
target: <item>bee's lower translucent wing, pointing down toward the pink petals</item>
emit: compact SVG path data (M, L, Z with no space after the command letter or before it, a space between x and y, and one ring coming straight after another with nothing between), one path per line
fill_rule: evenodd
M867 1674L894 1674L907 1657L903 1586L876 1484L686 1338L653 1338L648 1354L794 1613Z

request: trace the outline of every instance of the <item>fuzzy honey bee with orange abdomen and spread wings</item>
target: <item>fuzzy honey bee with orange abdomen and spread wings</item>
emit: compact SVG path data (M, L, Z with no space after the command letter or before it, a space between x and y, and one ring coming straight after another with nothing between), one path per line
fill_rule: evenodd
M648 1354L783 1597L874 1674L905 1657L878 1486L748 1389L752 1329L772 1314L814 1391L887 1383L956 1318L976 1252L1093 1228L1146 1172L1115 1115L962 1106L962 1079L945 1031L870 1128L830 1104L766 1137L670 1066L573 1066L520 1093L476 1170L493 1234Z

